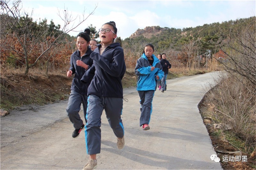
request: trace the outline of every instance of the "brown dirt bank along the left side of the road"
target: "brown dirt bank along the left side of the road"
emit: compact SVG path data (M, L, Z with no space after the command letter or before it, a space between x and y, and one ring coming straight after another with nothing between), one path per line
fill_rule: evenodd
M123 86L136 85L135 73L127 70ZM44 105L58 100L68 99L72 78L66 71L53 72L45 77L44 72L31 70L24 76L19 70L6 70L1 73L1 109L10 110L23 105Z

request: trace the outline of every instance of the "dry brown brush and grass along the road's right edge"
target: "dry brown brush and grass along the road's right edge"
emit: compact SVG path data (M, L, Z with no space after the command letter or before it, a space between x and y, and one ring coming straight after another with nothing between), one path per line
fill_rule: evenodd
M255 94L249 81L238 81L234 74L222 74L218 85L204 96L199 105L202 117L210 117L207 123L209 135L223 169L255 169ZM215 125L221 129L215 129ZM229 127L229 129L225 129ZM221 152L242 152L247 162L225 162Z

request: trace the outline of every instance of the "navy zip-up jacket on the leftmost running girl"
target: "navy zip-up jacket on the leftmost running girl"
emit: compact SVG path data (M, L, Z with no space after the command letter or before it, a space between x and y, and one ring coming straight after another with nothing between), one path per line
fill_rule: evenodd
M69 70L72 70L72 74L75 74L72 84L71 84L71 90L74 90L80 94L87 95L87 88L90 84L90 82L84 84L81 82L81 78L83 77L85 73L85 69L81 66L76 65L76 60L81 60L85 64L89 66L89 68L92 66L93 61L90 58L90 55L92 54L92 50L89 47L82 57L80 57L80 51L75 51L71 57L70 57L70 68Z

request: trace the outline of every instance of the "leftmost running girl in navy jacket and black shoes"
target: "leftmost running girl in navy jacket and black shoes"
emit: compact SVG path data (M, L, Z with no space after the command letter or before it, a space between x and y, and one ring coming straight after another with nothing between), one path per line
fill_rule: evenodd
M84 118L86 121L86 109L87 109L87 88L89 83L82 83L81 78L92 66L92 59L90 55L92 53L90 44L90 29L86 28L84 32L81 32L76 37L77 50L70 57L70 68L67 72L67 76L71 77L75 74L72 85L71 93L68 98L67 114L70 122L73 123L75 128L72 133L72 137L78 137L82 129L84 129L84 123L80 118L79 111L81 104L84 108Z

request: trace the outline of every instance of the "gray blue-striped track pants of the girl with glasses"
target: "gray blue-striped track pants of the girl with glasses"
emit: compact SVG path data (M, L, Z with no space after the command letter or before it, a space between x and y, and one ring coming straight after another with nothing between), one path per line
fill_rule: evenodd
M124 136L124 126L121 119L123 99L113 97L98 97L89 95L87 107L87 124L85 127L85 144L87 154L100 153L101 143L101 115L106 112L108 123L116 137Z

